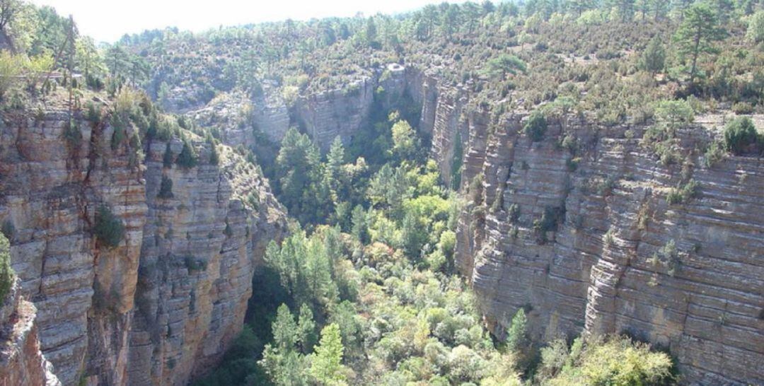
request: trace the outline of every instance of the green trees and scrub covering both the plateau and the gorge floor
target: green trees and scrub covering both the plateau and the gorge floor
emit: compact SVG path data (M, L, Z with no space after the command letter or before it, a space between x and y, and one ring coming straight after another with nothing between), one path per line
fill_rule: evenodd
M105 92L117 127L112 146L127 140L127 127L138 127L131 137L138 148L179 135L183 150L173 159L168 143L165 166L191 168L218 162L220 133L184 112L228 92L275 92L289 105L311 92L352 93L354 80L384 77L388 63L400 63L470 90L473 109L532 113L523 130L533 141L562 114L605 125L652 124L643 144L666 164L681 161L677 130L698 115L733 111L740 117L704 149L713 162L764 151L764 134L748 117L764 113L762 7L756 0L442 3L397 16L200 34L167 28L98 45L53 8L0 0L0 98L11 111L63 86L95 122L105 119L102 106L86 104L83 95ZM52 71L63 82L51 79ZM445 185L429 159L429 138L417 130L416 108L405 100L383 108L382 98L377 90L354 140L337 139L328 151L297 124L280 144L267 143L270 162L257 147L237 149L269 175L292 217L290 236L268 246L244 331L222 365L196 384L626 385L681 378L669 355L625 336L536 342L524 308L506 331L489 332L454 262L458 211L477 199L480 185ZM248 111L237 114L250 124ZM70 140L82 140L75 134ZM208 159L199 159L193 139L212 144ZM559 146L573 149L571 141ZM673 199L690 198L688 185ZM172 188L163 179L159 197L171 198ZM559 215L545 213L539 234ZM114 221L99 210L99 242L121 240ZM0 251L0 293L10 280L6 254Z

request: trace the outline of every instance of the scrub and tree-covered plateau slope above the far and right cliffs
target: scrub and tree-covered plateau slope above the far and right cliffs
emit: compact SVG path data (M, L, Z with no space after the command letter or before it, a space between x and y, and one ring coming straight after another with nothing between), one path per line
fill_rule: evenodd
M480 95L474 103L530 111L556 102L615 124L649 120L662 99L690 98L704 112L761 112L761 7L750 0L443 3L395 17L147 31L123 37L108 55L118 63L112 73L160 100L193 95L186 108L232 88L276 87L289 101L406 63L465 85ZM132 72L118 57L143 59L151 71Z

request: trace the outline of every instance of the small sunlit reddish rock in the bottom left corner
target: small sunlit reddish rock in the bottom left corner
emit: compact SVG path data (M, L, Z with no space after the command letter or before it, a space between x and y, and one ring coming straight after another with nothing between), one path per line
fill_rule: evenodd
M0 385L60 386L53 366L40 352L37 309L21 297L18 285L0 305Z

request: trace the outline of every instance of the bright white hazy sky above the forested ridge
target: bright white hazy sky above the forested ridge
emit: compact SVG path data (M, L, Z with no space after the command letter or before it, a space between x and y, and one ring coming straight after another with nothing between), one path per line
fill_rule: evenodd
M179 27L204 31L220 25L305 20L410 11L442 0L32 0L74 15L81 34L112 42L123 34ZM457 2L449 0L449 2Z

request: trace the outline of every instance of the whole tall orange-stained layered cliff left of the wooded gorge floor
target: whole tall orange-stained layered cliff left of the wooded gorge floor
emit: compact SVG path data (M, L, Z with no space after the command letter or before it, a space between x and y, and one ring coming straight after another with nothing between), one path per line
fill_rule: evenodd
M13 230L40 349L65 385L183 384L241 330L254 265L283 228L280 206L225 146L218 166L196 140L199 166L163 170L166 144L150 143L144 165L131 129L115 145L112 127L76 113L70 130L60 100L43 114L5 114L0 127L0 224ZM162 175L175 198L157 200ZM114 248L94 236L102 206L125 227ZM174 365L183 372L167 372Z

